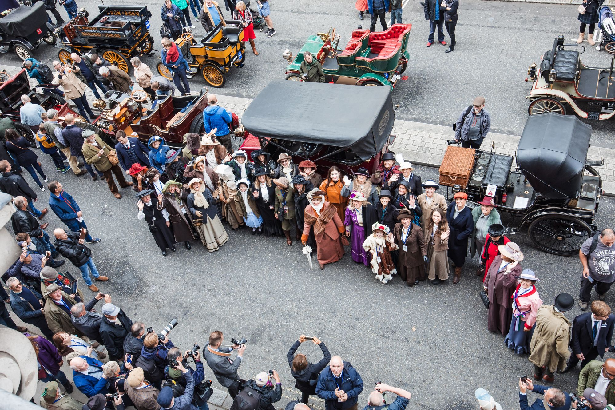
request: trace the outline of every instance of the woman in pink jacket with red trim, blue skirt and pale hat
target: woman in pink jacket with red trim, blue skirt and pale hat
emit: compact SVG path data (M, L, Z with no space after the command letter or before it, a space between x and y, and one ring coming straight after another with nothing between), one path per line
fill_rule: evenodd
M536 278L533 270L526 269L517 276L517 288L512 294L512 321L504 344L517 355L530 353L530 342L536 323L536 313L542 300L536 291Z

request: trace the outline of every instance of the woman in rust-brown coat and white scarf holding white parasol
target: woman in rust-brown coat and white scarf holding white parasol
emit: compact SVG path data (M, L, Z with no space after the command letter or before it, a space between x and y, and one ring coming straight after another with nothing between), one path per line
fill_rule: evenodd
M344 223L339 218L335 206L325 201L323 191L311 190L308 193L308 201L301 242L304 245L308 242L310 228L314 227L314 236L318 244L316 252L318 264L320 269L324 269L325 264L337 262L344 256L340 236L345 230Z

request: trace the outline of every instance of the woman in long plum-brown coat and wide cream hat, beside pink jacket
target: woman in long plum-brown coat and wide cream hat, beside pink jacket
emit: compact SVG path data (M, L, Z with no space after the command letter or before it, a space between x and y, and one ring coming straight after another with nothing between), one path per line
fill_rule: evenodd
M506 336L512 320L512 294L521 275L523 252L514 242L498 246L500 254L491 263L483 287L489 297L488 324L491 332Z

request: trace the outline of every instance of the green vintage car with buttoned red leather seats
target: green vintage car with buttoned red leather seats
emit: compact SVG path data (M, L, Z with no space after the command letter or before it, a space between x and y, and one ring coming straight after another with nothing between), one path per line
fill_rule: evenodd
M335 28L328 33L310 36L293 59L285 50L284 57L290 64L286 79L304 81L300 66L303 53L309 51L322 64L326 82L359 86L395 86L406 70L410 55L406 50L411 24L394 24L388 30L370 33L354 30L346 47L338 49L339 36Z

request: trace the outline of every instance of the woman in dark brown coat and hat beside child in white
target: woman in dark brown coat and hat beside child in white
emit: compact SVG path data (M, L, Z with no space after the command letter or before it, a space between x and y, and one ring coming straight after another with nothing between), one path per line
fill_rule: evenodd
M408 286L415 286L425 280L425 263L427 262L427 246L423 230L411 221L414 216L406 209L397 215L400 223L395 224L393 235L399 247L397 273Z

